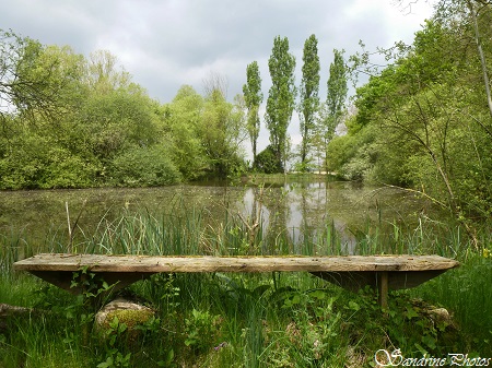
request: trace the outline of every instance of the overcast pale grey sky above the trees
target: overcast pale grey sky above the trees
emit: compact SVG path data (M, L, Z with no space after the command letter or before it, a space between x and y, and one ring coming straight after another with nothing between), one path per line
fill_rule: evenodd
M266 100L273 38L289 38L298 84L304 41L312 34L318 38L325 99L333 48L350 55L359 50L360 39L368 50L411 43L431 14L423 0L410 11L393 0L0 0L0 28L45 45L69 45L85 56L109 50L133 82L161 103L171 102L184 84L202 93L211 73L227 79L232 100L255 60ZM294 112L294 143L300 141L296 120ZM263 129L260 149L266 144Z

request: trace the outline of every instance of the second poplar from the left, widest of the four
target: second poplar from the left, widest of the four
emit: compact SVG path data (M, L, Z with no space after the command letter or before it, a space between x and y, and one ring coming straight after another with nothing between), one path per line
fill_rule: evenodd
M285 170L288 157L288 127L291 122L295 104L294 69L295 57L289 52L289 39L277 36L268 60L272 86L267 99L265 120L270 131L270 144L279 162Z

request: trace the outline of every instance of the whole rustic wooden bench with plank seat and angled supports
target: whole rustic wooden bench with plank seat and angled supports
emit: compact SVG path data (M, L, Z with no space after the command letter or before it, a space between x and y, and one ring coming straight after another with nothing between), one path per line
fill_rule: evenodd
M418 286L458 262L438 256L344 257L155 257L103 254L37 254L14 263L32 274L71 293L73 272L86 269L108 284L122 288L155 273L202 272L309 272L344 288L366 285L378 290L387 307L388 289Z

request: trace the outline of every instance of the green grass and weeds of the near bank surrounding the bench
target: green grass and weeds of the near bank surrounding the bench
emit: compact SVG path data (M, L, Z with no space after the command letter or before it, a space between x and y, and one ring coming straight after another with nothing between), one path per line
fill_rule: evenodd
M251 233L247 221L235 216L212 227L204 216L178 207L160 216L127 213L112 222L102 218L93 234L79 229L69 246L66 234L51 234L35 249L22 232L2 234L0 302L32 310L1 319L0 367L370 367L375 352L396 348L406 357L492 357L492 259L487 247L477 249L459 228L444 224L358 233L361 253L437 253L462 262L415 289L393 293L386 312L368 290L349 293L304 273L160 274L125 292L153 308L155 317L136 336L125 321L114 321L102 336L93 323L98 306L12 271L19 257L68 247L138 254L345 250L329 223L294 247L285 232ZM490 232L481 234L482 246L489 245Z

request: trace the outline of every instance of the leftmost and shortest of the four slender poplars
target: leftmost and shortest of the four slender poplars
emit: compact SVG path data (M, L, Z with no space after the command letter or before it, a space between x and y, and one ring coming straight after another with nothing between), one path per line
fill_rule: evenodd
M263 100L261 93L261 78L258 62L253 61L246 67L246 84L243 85L243 94L248 109L246 128L253 149L253 166L256 163L256 144L260 130L259 107Z

